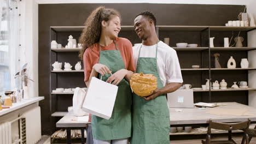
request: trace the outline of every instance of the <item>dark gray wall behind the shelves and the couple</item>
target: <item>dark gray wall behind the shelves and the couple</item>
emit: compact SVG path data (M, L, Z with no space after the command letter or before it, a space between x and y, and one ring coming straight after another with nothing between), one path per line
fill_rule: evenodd
M122 25L133 25L133 19L135 16L144 10L153 11L156 16L156 25L177 25L177 26L187 26L187 25L197 25L197 26L223 26L228 20L236 20L237 15L243 11L244 5L204 5L204 4L147 4L147 3L136 3L136 4L39 4L39 95L44 95L45 99L40 101L39 105L42 110L42 134L51 134L51 130L55 127L55 123L58 118L53 118L51 121L50 113L50 67L49 67L49 44L50 44L50 26L82 26L86 18L89 16L92 10L104 5L107 8L114 8L120 11L122 16ZM186 35L187 34L187 35ZM245 35L245 33L241 33ZM77 37L79 34L76 34ZM129 36L130 35L130 36ZM189 41L200 41L200 33L198 32L162 32L160 39L167 35L171 38L171 46L174 46L176 41L179 39L186 39ZM197 35L197 36L195 36ZM222 34L220 34L222 35ZM134 32L121 32L120 37L126 37L132 41L132 43L138 43L140 40L136 37ZM216 34L218 37L218 33ZM223 37L223 36L222 36ZM230 37L230 33L228 36ZM202 41L200 41L202 42ZM190 43L190 42L189 42ZM214 44L221 45L223 42L216 42ZM64 44L62 44L64 45ZM191 53L178 52L179 61L181 62L181 67L190 67L194 63L205 63L207 67L207 52L205 54L193 52ZM212 53L213 54L213 53ZM64 54L75 56L75 54ZM222 53L220 54L222 56ZM225 65L227 61L228 53L223 53L225 58L220 63ZM238 55L234 53L234 55ZM246 55L245 52L241 52L241 55ZM203 57L201 59L200 57ZM205 58L206 57L206 58ZM240 57L240 56L238 56ZM198 59L199 58L199 59ZM190 59L194 61L190 62ZM75 62L77 57L72 62ZM213 63L213 62L212 62ZM213 64L212 64L213 65ZM244 73L245 71L243 71ZM216 72L217 80L222 79L223 76L228 76L229 71ZM233 72L231 72L233 73ZM236 72L241 73L241 72ZM190 82L192 85L200 87L201 82L198 79L202 79L202 83L205 83L205 78L207 78L207 72L196 72L196 71L184 71L183 79L184 83ZM240 74L235 74L240 75ZM246 79L247 77L241 74L241 79ZM80 83L83 83L83 75L80 74ZM65 77L65 75L60 75L60 77ZM75 76L74 76L75 77ZM191 81L191 77L192 81ZM64 79L64 78L63 78ZM77 77L75 78L77 79ZM228 82L232 81L233 78L230 77ZM70 79L66 80L70 81ZM64 81L65 82L65 81ZM61 84L59 84L61 86ZM67 85L68 82L67 82ZM237 92L236 92L237 93ZM228 95L222 97L223 95ZM213 101L238 101L240 103L246 104L247 98L245 95L247 92L238 92L238 95L232 92L215 92L212 97ZM232 95L237 95L232 97ZM206 100L208 93L197 93L195 94L195 101ZM220 97L218 97L220 95ZM241 96L242 95L242 96ZM72 105L72 95L66 95L65 97L55 98L58 100L58 104L53 104L53 107L59 107L59 111L66 111L67 106Z

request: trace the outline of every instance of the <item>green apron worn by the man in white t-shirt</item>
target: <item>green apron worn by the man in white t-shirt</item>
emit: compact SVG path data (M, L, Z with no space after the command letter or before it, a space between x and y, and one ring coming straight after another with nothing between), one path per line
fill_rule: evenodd
M158 40L159 42L159 40ZM139 54L141 53L139 48ZM158 78L158 88L162 82L157 65L158 44L155 57L139 57L136 73L153 74ZM153 100L145 100L133 93L131 144L169 144L170 113L165 95Z

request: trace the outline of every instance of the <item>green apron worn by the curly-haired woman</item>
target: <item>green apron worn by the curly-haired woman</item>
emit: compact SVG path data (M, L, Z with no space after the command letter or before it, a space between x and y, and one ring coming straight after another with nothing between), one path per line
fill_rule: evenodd
M123 58L118 50L101 51L100 46L100 60L98 63L106 65L114 74L120 69L125 69ZM98 77L101 75L99 74ZM107 81L109 74L102 76L103 81ZM100 90L100 89L99 89ZM131 137L131 105L132 105L132 92L125 79L121 80L118 84L117 98L111 118L104 119L92 115L92 135L96 140L115 140L125 139Z

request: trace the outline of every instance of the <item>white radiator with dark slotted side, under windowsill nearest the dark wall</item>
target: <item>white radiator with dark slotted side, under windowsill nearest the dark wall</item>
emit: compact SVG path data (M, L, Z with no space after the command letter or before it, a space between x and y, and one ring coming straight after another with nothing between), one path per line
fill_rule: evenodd
M40 107L36 107L26 113L21 115L21 129L22 125L24 126L24 122L26 125L26 135L21 133L22 137L26 137L26 139L22 139L22 143L34 144L37 143L41 139L41 118L40 118ZM22 132L22 131L21 131ZM25 142L26 140L26 142Z

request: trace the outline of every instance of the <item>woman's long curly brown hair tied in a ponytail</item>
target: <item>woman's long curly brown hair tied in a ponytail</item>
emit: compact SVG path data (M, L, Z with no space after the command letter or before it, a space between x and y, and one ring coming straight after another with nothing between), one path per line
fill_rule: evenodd
M79 38L79 43L82 44L82 50L79 53L80 59L83 60L85 50L91 45L98 43L101 37L101 22L108 21L113 15L121 19L119 12L115 9L106 9L105 7L98 7L89 15L85 21L85 28Z

